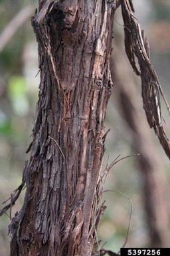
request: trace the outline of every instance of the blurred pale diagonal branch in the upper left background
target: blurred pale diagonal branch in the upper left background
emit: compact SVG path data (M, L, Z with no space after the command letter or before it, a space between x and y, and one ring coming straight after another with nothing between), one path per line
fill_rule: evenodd
M0 53L3 51L10 39L15 35L19 27L21 27L23 23L31 17L33 10L34 8L31 5L23 7L23 9L21 9L19 13L9 21L8 25L0 35Z

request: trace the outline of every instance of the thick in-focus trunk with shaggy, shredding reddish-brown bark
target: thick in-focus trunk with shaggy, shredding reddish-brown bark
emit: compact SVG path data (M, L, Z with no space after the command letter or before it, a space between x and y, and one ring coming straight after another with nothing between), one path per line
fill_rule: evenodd
M11 256L92 253L102 212L115 9L114 1L106 0L39 1L33 27L41 84L23 178L25 203L9 227Z

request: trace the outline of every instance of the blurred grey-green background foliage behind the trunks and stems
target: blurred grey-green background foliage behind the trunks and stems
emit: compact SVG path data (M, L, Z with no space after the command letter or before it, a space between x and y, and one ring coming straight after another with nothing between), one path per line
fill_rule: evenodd
M169 100L170 1L133 0L133 4L137 19L141 22L141 27L145 29L145 34L149 39L151 59ZM0 0L0 39L7 24L27 5L36 7L37 1ZM123 22L120 17L121 14L118 11L114 27L116 31L123 34ZM39 67L37 59L37 42L31 27L31 20L27 19L0 52L0 203L7 199L21 183L23 166L27 159L25 151L31 141L30 135L38 98ZM133 79L140 94L140 81L135 76ZM142 101L140 104L141 111L143 111ZM163 113L165 112L164 108ZM166 112L163 116L168 130L169 117ZM124 122L114 90L108 106L106 128L111 128L111 131L106 140L104 166L106 166L108 156L109 162L112 162L119 154L122 156L131 154L131 131ZM161 172L165 173L168 180L170 176L169 160L153 132L151 136L153 150L157 150L163 166ZM113 190L113 192L104 193L108 208L98 231L98 239L102 239L101 244L106 242L105 248L113 251L118 251L126 239L131 210L129 199L118 192L130 197L133 203L127 245L129 247L148 245L148 224L142 196L143 180L141 173L137 172L135 158L128 158L117 164L110 172L106 182L106 190ZM23 195L13 207L12 215L20 209L22 201ZM9 221L8 215L3 215L0 219L1 256L7 256L9 253L7 237Z

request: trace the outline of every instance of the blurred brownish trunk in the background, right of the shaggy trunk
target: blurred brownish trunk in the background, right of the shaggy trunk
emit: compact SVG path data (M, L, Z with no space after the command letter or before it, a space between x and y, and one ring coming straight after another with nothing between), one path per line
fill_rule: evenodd
M141 155L137 158L137 164L143 178L143 201L149 231L148 246L168 247L168 184L165 174L163 174L161 158L154 150L155 146L144 112L140 109L140 100L137 96L133 74L131 74L132 70L123 53L121 37L119 38L120 41L115 43L116 51L112 56L112 72L116 83L115 94L133 138L133 150ZM124 70L124 76L122 76L122 70Z

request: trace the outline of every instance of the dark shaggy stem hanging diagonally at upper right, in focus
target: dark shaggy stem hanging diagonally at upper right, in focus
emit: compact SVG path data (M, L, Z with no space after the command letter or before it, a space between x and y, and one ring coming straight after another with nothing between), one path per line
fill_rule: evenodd
M170 158L170 142L162 124L159 93L163 96L168 111L170 108L149 59L149 43L144 38L143 31L141 31L133 11L131 1L122 0L126 53L133 70L141 76L143 107L149 126L155 130L155 134L157 134L165 153ZM135 57L138 59L140 70L135 64Z

